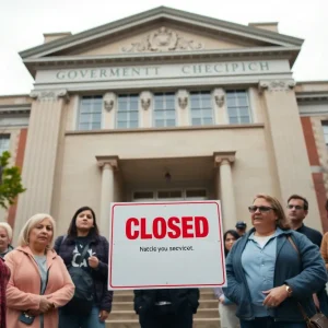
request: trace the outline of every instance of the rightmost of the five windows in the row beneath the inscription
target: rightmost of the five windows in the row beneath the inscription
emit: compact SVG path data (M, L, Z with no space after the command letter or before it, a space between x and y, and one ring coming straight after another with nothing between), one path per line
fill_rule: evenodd
M243 125L251 121L248 95L245 90L226 91L226 108L231 125Z

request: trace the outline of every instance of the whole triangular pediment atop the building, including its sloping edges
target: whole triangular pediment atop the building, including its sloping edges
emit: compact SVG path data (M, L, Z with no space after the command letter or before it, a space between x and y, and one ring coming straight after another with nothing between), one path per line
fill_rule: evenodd
M162 28L162 30L161 30ZM178 39L179 38L179 39ZM300 47L303 40L271 31L160 7L22 51L23 59L141 51Z

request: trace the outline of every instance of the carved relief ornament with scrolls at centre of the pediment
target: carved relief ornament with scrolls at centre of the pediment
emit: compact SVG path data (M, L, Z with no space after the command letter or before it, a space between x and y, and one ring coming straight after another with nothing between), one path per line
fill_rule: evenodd
M186 39L175 31L165 26L150 33L140 42L133 42L127 47L122 47L122 52L161 52L173 50L201 50L204 46L194 39Z

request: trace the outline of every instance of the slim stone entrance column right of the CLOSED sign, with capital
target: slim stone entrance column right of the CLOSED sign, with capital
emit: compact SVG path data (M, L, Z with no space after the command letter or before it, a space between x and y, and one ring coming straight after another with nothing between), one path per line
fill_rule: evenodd
M234 229L236 218L236 202L231 165L235 161L235 152L214 153L214 163L219 167L218 190L221 195L223 230Z

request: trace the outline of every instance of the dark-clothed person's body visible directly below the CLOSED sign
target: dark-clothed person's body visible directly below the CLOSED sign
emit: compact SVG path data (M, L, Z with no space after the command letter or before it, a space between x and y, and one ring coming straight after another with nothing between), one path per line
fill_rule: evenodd
M141 328L191 328L198 289L136 290L134 311Z

